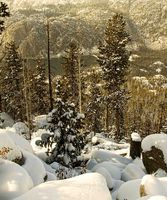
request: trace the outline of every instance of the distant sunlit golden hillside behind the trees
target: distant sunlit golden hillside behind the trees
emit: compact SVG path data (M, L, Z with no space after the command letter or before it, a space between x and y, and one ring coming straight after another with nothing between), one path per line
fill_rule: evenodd
M46 57L46 17L48 17L51 56L56 63L58 61L57 65L59 66L60 57L73 38L79 41L84 54L89 55L88 63L94 63L92 55L96 54L99 41L104 36L107 20L115 12L121 12L126 18L127 29L132 38L130 49L140 55L135 61L138 67L134 68L134 73L144 73L138 71L138 68L147 68L153 61L161 61L167 65L166 0L6 0L6 2L10 5L12 16L7 22L8 28L3 35L3 41L15 40L23 57L34 58L37 55Z

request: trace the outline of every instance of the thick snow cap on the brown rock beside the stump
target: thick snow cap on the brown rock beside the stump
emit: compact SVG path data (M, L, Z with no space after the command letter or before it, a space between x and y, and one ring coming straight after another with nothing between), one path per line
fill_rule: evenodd
M164 161L167 164L167 134L152 134L145 137L142 141L143 152L151 151L151 147L156 147L163 152Z

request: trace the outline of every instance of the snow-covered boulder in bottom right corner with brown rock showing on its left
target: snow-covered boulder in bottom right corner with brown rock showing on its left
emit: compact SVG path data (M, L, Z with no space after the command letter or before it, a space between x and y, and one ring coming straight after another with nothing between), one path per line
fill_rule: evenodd
M167 177L145 175L140 185L140 196L163 195L167 197Z

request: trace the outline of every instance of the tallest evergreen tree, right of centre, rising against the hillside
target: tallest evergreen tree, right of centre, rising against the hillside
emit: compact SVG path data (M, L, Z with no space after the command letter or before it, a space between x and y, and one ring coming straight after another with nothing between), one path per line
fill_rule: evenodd
M106 107L111 106L115 113L116 137L121 138L123 127L123 109L125 104L126 74L129 52L126 49L130 41L126 32L126 23L122 15L115 14L109 19L105 30L105 40L99 47L98 62L103 70L106 90ZM108 125L107 125L108 126Z

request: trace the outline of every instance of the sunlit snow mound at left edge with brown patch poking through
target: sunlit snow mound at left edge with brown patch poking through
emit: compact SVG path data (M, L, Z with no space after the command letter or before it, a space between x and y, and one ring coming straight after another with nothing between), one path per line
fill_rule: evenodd
M0 158L15 161L22 158L22 153L5 129L0 129Z

